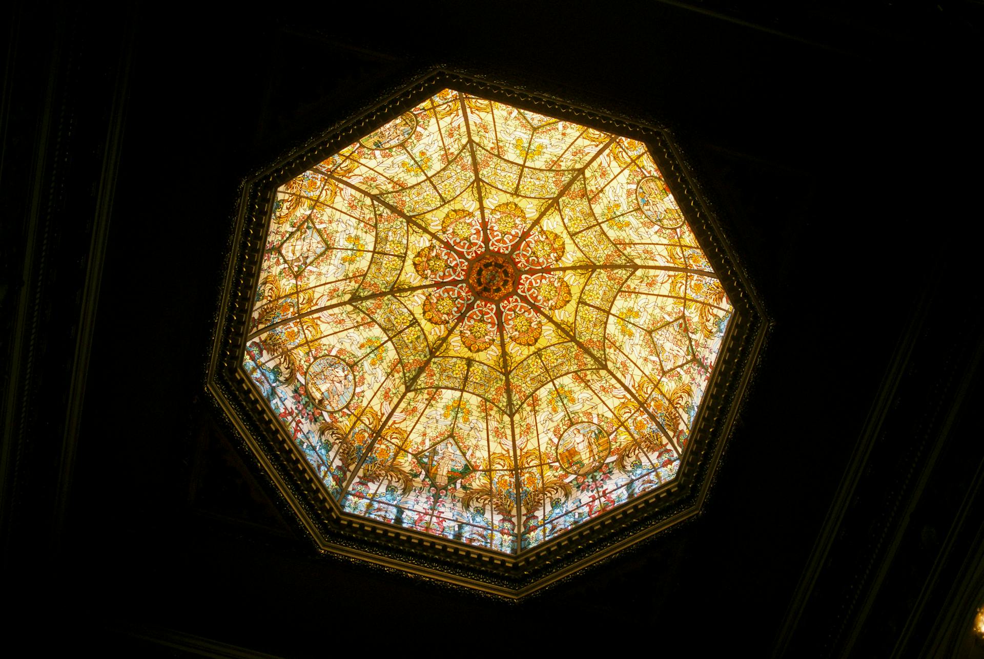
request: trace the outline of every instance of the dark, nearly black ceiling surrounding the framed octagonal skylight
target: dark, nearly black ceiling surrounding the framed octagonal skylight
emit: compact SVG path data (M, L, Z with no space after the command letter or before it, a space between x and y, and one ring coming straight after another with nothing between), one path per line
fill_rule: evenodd
M741 4L5 10L9 642L980 652L982 6ZM435 66L672 129L773 322L703 513L519 603L318 554L205 389L241 181Z

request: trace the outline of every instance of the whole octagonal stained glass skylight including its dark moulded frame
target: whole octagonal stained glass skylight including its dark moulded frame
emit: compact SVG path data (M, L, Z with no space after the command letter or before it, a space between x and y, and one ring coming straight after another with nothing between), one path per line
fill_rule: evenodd
M519 596L700 509L765 326L676 157L440 73L246 182L210 389L323 550Z

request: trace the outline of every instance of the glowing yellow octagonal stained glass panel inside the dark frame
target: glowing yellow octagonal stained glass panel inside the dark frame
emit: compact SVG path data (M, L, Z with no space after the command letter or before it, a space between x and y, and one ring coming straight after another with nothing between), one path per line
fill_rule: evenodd
M733 309L642 142L441 90L265 222L242 368L339 514L522 556L676 477Z

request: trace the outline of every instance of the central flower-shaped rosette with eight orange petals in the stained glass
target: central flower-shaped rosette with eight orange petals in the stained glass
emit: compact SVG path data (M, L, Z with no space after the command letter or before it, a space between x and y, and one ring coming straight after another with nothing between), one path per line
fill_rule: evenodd
M435 325L453 325L471 352L486 350L506 338L533 345L543 331L543 310L560 309L571 301L571 287L551 268L564 257L564 239L539 227L528 230L527 217L515 203L488 212L452 210L441 223L444 235L413 257L424 279L444 286L431 288L424 300L424 318Z

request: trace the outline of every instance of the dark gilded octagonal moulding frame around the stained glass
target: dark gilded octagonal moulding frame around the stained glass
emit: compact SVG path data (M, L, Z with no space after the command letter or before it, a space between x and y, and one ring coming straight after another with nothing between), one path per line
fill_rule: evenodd
M734 306L677 477L518 555L462 545L340 512L241 366L252 295L277 187L445 88L644 142ZM294 150L243 181L218 309L207 389L320 551L510 599L521 598L604 561L702 509L769 331L763 305L714 221L693 180L692 168L665 128L447 71L431 72L380 99L374 109L352 117L309 146Z

